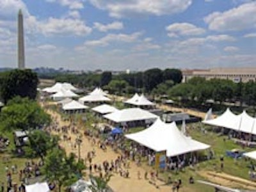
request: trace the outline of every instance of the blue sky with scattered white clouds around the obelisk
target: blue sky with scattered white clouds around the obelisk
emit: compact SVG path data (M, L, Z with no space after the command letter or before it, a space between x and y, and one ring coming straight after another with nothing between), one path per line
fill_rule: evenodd
M0 67L256 67L253 0L0 0Z

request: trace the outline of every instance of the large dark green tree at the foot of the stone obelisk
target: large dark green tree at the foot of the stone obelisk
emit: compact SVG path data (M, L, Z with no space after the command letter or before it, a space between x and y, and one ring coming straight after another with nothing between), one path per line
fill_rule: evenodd
M35 99L37 84L38 77L31 69L11 70L1 78L1 97L4 103L16 96Z

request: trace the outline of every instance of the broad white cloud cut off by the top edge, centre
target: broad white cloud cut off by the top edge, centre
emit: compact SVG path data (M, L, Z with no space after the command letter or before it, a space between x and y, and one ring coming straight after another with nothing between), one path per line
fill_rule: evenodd
M89 0L101 10L108 10L111 17L125 17L134 14L166 15L186 10L192 0Z

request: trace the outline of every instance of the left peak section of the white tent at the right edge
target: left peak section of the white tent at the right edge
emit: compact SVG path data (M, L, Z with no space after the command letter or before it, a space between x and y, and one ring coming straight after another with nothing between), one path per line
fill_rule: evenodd
M237 125L239 125L240 119L237 118L237 115L232 113L229 108L227 108L226 111L217 118L214 118L212 120L204 120L202 122L204 124L214 125L218 127L226 127L228 129L234 129L238 131Z

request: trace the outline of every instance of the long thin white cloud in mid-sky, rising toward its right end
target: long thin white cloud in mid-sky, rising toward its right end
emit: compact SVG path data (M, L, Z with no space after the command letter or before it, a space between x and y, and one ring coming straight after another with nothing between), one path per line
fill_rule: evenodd
M92 41L87 41L84 44L85 45L92 45L92 46L106 46L109 45L110 42L126 42L126 43L131 43L135 42L138 40L138 37L141 36L141 32L136 32L132 33L131 35L127 34L108 34L99 40L92 40Z

